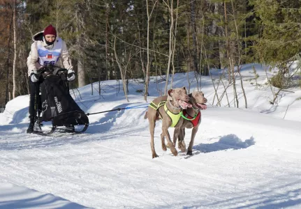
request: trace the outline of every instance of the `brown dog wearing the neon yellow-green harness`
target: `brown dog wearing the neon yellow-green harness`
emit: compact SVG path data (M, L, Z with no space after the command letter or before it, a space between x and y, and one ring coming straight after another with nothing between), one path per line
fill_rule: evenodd
M154 99L152 103L149 105L147 112L145 113L145 119L148 118L149 120L152 158L159 157L154 149L154 127L156 126L156 121L158 121L159 119L162 119L162 134L161 134L162 149L166 151L166 144L164 142L164 137L166 137L168 141L168 146L170 147L172 154L177 156L177 150L175 149L175 146L172 144L172 141L170 140L168 127L175 127L175 129L178 130L177 133L179 133L179 128L182 127L182 123L184 120L182 117L179 117L179 121L175 123L168 115L168 111L178 116L178 114L182 111L182 109L191 107L191 104L187 103L188 101L189 101L189 96L187 95L186 88L182 87L182 88L174 88L168 90L168 95L161 96L159 98Z

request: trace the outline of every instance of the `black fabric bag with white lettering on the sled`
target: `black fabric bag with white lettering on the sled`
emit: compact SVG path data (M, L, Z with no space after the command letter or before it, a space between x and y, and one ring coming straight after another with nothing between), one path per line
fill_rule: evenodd
M58 126L85 125L79 132L87 130L89 118L71 97L64 74L45 77L41 84L41 104L41 122L52 121L52 130L48 134Z

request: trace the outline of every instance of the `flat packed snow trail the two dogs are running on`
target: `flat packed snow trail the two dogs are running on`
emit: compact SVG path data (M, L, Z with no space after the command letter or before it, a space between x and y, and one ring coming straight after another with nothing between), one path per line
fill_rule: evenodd
M0 179L91 208L299 208L300 122L282 120L283 130L280 119L208 108L193 156L163 152L157 123L152 159L143 115L120 112L58 138L1 130Z

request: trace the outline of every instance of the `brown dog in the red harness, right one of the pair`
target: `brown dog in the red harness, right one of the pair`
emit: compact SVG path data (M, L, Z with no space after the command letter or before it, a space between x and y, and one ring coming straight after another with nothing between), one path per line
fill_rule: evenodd
M201 121L200 110L207 109L207 105L205 104L207 102L207 99L204 97L204 93L202 91L193 91L193 93L189 94L189 98L189 102L192 104L192 107L189 107L185 111L183 111L183 115L188 119L184 119L182 126L179 129L175 130L174 135L179 136L178 148L181 149L182 152L184 152L186 149L184 142L185 128L192 128L191 140L187 150L187 155L192 155L194 137L196 137L196 132L198 132L198 126L200 125ZM179 131L179 133L176 133L177 131ZM176 144L176 141L177 139L174 138L174 144Z

